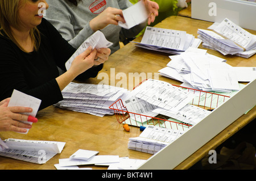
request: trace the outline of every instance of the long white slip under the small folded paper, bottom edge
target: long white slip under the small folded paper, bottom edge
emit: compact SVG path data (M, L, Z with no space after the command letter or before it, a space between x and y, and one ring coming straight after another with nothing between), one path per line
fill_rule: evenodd
M117 163L119 162L118 155L96 155L88 161L82 159L64 158L59 159L59 166L74 166L74 165L92 165L97 163Z

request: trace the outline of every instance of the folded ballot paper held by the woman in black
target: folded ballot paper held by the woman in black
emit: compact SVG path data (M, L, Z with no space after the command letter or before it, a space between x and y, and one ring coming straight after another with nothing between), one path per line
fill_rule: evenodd
M108 48L111 45L113 45L113 43L109 42L108 40L106 40L106 37L104 36L104 34L101 31L96 31L95 33L93 33L93 35L91 35L90 37L88 37L88 39L86 39L84 41L84 43L82 43L80 45L80 47L76 50L76 52L69 58L69 60L65 63L65 67L68 70L71 67L71 64L73 62L73 60L82 52L84 52L86 49L88 49L90 46L94 49L98 49L98 48Z

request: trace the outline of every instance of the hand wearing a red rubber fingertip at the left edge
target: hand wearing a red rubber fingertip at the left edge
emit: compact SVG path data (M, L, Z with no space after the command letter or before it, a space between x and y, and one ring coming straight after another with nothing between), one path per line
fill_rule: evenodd
M0 102L0 131L26 133L27 129L30 129L32 125L24 124L20 121L30 121L32 123L36 123L38 119L22 114L32 112L32 108L19 106L7 107L9 101L10 98L7 98Z

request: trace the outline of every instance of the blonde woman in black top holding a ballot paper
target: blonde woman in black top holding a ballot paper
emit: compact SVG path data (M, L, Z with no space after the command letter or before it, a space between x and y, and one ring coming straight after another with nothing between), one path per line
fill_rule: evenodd
M42 100L39 109L63 99L61 90L73 79L96 77L108 60L110 49L88 48L65 70L76 51L40 14L44 0L0 1L0 100L14 89ZM95 61L96 58L100 60Z

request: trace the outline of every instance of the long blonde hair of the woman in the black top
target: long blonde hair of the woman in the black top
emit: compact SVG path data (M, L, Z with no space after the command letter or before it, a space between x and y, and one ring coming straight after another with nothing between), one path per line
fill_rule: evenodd
M26 2L27 0L0 0L0 34L3 35L1 31L5 32L6 36L24 52L26 51L15 40L15 37L11 32L11 27L18 29L20 25L18 10ZM32 28L30 30L30 36L34 43L34 48L37 51L40 45L40 32L38 28Z

